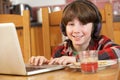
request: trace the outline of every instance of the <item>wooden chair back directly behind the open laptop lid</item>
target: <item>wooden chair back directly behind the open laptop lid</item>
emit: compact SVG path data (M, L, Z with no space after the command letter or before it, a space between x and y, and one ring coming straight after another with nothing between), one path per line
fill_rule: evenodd
M24 61L28 62L31 56L29 11L23 11L23 16L17 14L0 14L0 23L9 22L13 22L16 26Z

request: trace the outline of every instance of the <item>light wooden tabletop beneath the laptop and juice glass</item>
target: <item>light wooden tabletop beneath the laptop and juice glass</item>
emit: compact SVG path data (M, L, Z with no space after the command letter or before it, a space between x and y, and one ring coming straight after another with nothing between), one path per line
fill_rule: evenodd
M0 80L118 80L119 66L103 68L97 73L83 74L77 69L65 68L33 76L0 75Z

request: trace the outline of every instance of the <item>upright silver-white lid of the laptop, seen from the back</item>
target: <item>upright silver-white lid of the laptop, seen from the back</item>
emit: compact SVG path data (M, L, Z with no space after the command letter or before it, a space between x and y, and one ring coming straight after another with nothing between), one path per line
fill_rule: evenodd
M25 65L13 23L0 24L0 73L25 75Z

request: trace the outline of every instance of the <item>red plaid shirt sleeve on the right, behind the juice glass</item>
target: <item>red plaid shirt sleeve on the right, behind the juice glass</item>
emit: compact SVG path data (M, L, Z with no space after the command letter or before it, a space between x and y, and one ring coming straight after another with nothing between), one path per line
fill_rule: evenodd
M112 40L103 36L101 41L101 49L98 52L99 59L116 59L120 57L120 45L115 44Z

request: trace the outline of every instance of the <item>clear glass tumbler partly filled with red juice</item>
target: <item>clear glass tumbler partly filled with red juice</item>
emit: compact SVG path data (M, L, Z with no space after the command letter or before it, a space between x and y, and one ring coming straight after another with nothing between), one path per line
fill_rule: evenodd
M87 50L80 53L80 67L82 73L95 73L98 69L98 51Z

